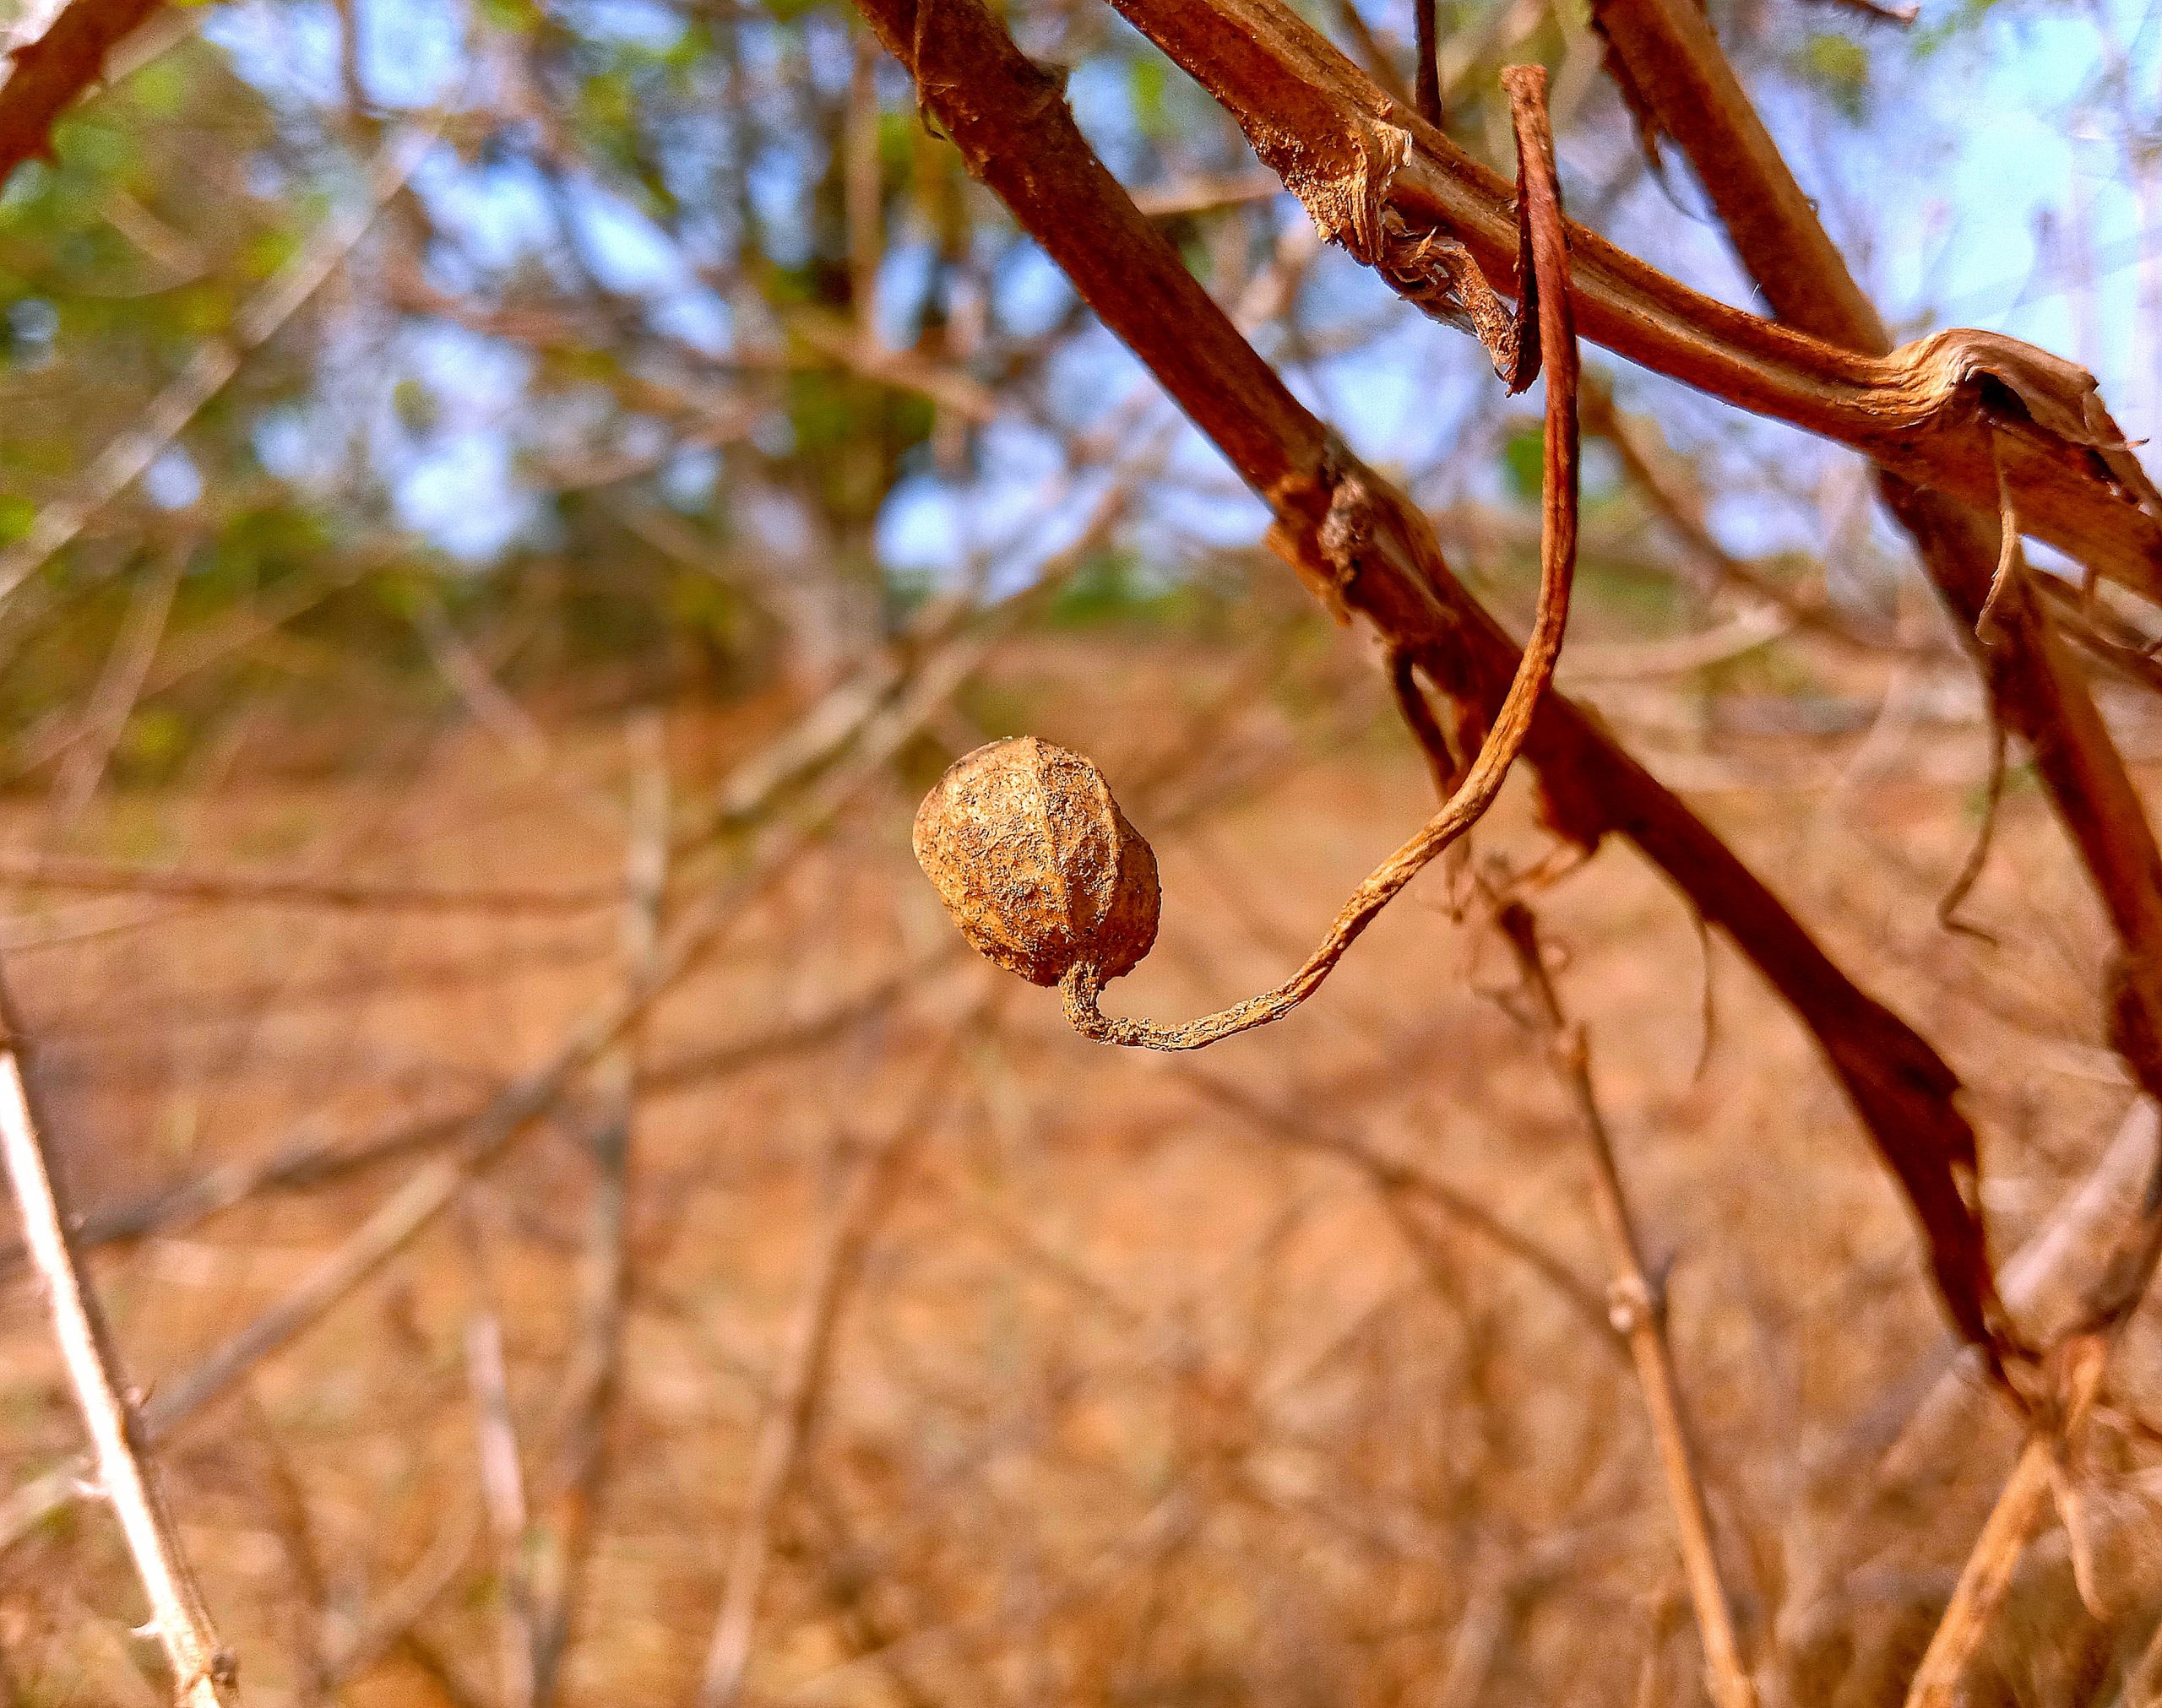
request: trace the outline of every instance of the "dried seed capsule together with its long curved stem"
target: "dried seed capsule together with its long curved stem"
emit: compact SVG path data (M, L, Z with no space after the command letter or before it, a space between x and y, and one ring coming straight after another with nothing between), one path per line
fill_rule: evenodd
M1570 240L1546 125L1546 71L1503 71L1516 121L1520 208L1535 290L1529 333L1511 329L1494 363L1511 387L1546 361L1546 469L1539 614L1479 757L1420 830L1390 854L1330 923L1321 945L1273 990L1185 1025L1116 1018L1096 1003L1157 940L1157 856L1126 824L1103 776L1079 755L1020 739L982 748L940 778L917 815L917 858L962 934L1033 984L1057 984L1075 1031L1105 1044L1189 1051L1280 1020L1442 850L1494 804L1554 675L1576 575L1576 322ZM1535 333L1535 335L1533 335Z

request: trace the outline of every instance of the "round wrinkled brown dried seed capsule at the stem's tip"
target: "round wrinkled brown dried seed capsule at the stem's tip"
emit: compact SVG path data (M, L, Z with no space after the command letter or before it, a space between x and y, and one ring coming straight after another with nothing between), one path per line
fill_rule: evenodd
M1157 940L1157 854L1079 752L1020 735L956 759L915 843L960 934L1031 984L1116 979Z

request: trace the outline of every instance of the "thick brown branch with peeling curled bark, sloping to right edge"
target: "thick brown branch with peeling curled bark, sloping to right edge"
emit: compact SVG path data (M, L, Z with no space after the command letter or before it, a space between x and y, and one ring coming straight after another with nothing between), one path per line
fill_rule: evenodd
M1516 288L1505 177L1390 99L1284 0L1113 0L1213 93L1321 233L1449 311L1457 246ZM2162 495L2082 368L1996 333L1859 352L1689 290L1570 227L1578 326L1615 355L1996 508L2099 575L2162 597ZM1477 309L1464 301L1464 311Z

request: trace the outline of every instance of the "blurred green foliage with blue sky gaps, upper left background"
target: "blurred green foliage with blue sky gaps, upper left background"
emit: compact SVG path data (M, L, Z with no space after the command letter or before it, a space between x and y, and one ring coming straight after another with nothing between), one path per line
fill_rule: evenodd
M0 195L4 549L236 335L361 199L387 138L441 123L426 171L322 290L0 605L0 776L50 770L173 562L112 742L121 776L173 774L264 703L355 724L437 707L445 633L510 692L564 705L664 685L726 698L830 668L938 584L893 564L897 495L995 489L1001 432L1066 454L1111 404L1075 383L1100 361L1062 368L1092 337L1072 292L837 0L456 4L454 56L486 76L439 91L432 119L413 91L378 91L409 52L393 26L424 9L376 2L393 11L368 52L344 35L359 13L326 0L277 0L268 37L257 17L225 45L179 39L74 110L54 158ZM1570 43L1554 17L1492 32L1498 2L1442 6L1444 35L1483 43L1449 125L1487 151L1492 69ZM1129 182L1250 171L1206 93L1109 13L1007 13L1087 78L1077 110ZM1314 17L1338 32L1332 9ZM1857 41L1781 41L1812 95L1864 112ZM1230 292L1276 255L1282 210L1211 205L1163 229ZM1317 277L1327 305L1338 285ZM1325 342L1330 316L1312 320L1297 337ZM999 426L960 393L997 398ZM1505 432L1507 499L1537 502L1539 454L1535 422ZM1587 489L1587 519L1609 504ZM1518 556L1481 571L1529 588ZM1250 569L1217 547L1122 545L1042 621L1222 633ZM1630 623L1680 610L1626 553L1587 551L1585 584ZM835 625L824 657L813 618Z

